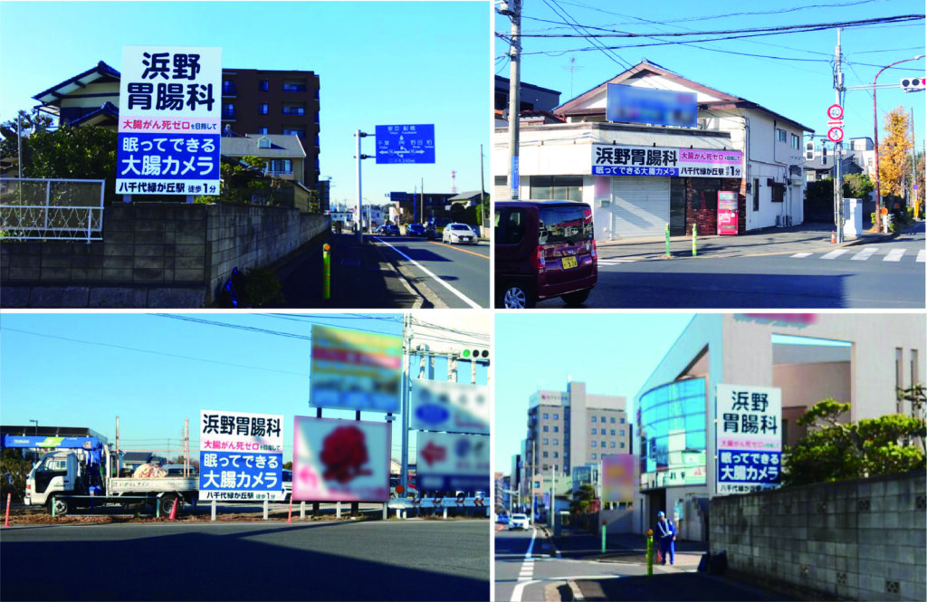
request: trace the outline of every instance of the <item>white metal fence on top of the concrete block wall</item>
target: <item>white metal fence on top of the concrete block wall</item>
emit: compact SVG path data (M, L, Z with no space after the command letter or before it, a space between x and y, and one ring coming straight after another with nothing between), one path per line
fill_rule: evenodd
M103 239L106 180L0 178L0 239Z

